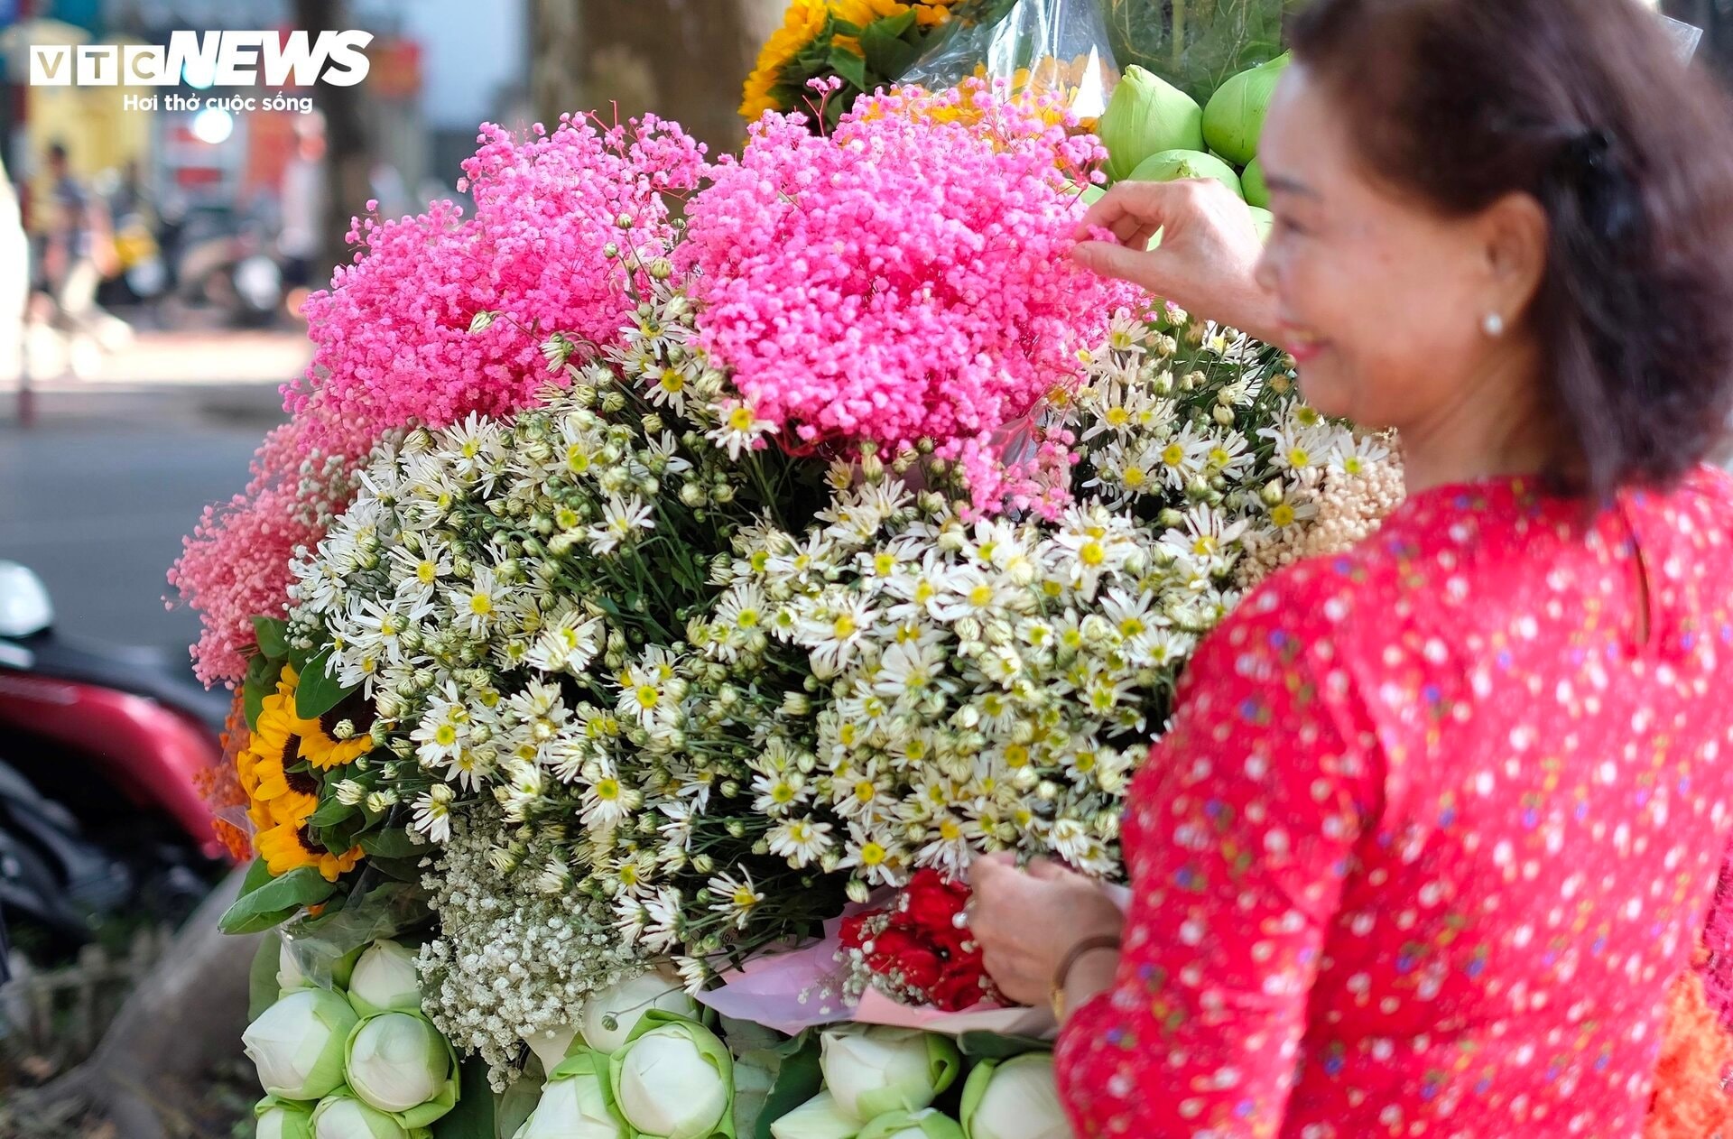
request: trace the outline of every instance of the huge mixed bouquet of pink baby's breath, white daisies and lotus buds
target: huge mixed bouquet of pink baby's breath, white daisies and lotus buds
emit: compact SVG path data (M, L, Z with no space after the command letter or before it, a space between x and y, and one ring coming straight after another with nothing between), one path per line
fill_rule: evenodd
M1026 1044L846 1021L991 1007L969 858L1120 875L1198 638L1399 470L1277 350L1073 265L1104 153L1057 104L837 123L714 163L489 130L475 217L359 225L310 302L293 421L177 569L248 726L272 1134L1057 1120ZM717 997L795 948L802 1025Z

